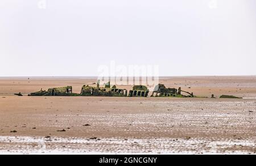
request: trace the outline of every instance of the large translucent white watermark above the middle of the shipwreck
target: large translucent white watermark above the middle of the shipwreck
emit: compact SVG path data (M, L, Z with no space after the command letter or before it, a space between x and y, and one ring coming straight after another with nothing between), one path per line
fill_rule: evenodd
M101 85L106 82L117 86L144 85L153 91L159 83L159 66L117 65L110 61L109 65L98 66L98 80Z

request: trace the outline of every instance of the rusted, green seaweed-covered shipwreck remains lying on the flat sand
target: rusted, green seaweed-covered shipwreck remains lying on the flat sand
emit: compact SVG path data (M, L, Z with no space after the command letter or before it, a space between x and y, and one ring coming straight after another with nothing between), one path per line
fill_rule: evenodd
M110 82L104 83L104 87L100 87L100 80L97 87L84 85L80 93L73 93L72 86L56 87L29 93L28 96L117 96L117 97L147 97L150 91L146 86L135 85L129 92L126 89L117 88L115 85L110 87ZM187 95L181 94L181 92ZM15 94L19 95L19 94ZM186 92L181 88L166 88L164 84L155 86L151 97L195 97L193 92Z

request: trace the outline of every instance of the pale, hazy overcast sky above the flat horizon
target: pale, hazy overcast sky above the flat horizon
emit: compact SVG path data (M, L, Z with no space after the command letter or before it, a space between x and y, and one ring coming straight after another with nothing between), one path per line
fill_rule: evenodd
M256 75L255 0L1 0L0 76Z

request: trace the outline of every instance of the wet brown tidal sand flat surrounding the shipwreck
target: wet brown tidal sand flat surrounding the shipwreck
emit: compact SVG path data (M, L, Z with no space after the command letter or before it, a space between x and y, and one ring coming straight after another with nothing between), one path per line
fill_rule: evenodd
M94 82L93 78L0 79L0 154L256 152L255 76L160 80L196 95L254 99L12 95L68 85L79 92L82 84Z

